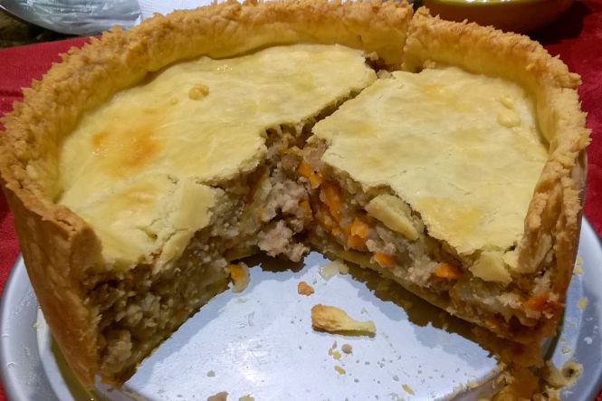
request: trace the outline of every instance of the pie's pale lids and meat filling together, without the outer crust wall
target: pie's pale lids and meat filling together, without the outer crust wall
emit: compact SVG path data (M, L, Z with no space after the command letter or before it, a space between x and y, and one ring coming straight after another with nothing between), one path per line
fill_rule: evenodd
M225 290L230 263L310 246L529 342L554 301L549 272L514 271L547 158L532 116L510 82L377 77L330 45L183 62L119 92L59 163L57 201L103 244L85 282L101 375L127 379Z

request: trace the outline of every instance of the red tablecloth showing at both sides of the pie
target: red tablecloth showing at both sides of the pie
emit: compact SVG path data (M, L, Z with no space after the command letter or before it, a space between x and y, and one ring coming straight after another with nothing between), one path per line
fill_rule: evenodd
M602 2L578 2L555 24L533 35L553 55L578 72L583 85L579 94L583 109L588 111L588 127L593 130L593 142L588 148L588 195L585 215L597 234L602 234ZM41 43L0 51L0 114L12 110L14 100L21 99L21 88L39 79L59 53L85 39ZM13 216L5 198L0 194L0 292L19 253L14 234ZM602 363L602 362L601 362ZM0 401L5 401L0 387ZM602 395L597 397L602 401Z

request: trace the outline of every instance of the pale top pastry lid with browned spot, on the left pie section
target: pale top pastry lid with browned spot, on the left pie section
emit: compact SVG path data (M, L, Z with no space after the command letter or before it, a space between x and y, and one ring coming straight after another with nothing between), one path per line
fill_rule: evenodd
M58 203L94 227L108 263L153 253L168 263L209 223L222 192L210 186L263 161L267 129L300 124L375 79L364 54L342 46L178 63L83 116L59 154Z

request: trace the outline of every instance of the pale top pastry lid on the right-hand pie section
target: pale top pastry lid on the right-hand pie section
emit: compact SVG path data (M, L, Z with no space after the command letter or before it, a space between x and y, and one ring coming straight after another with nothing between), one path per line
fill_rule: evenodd
M456 68L393 72L313 132L329 143L322 160L391 188L459 254L520 240L548 156L521 87Z

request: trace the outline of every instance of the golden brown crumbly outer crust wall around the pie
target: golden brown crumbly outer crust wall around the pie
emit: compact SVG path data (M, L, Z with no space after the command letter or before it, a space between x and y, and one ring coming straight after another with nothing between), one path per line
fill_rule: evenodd
M124 33L115 28L72 49L4 118L0 171L24 261L54 338L77 377L91 386L100 361L95 324L81 279L102 261L100 241L69 209L56 205L57 153L62 136L82 113L115 92L178 60L228 57L286 43L340 43L376 52L395 69L416 72L432 63L519 82L537 105L550 142L518 247L526 273L555 263L559 299L531 339L558 323L577 252L588 144L585 114L575 90L579 77L528 38L476 24L444 22L395 2L298 0L228 2L167 17L155 16ZM407 41L406 41L407 36ZM404 47L405 45L405 47ZM403 48L403 52L402 52Z

